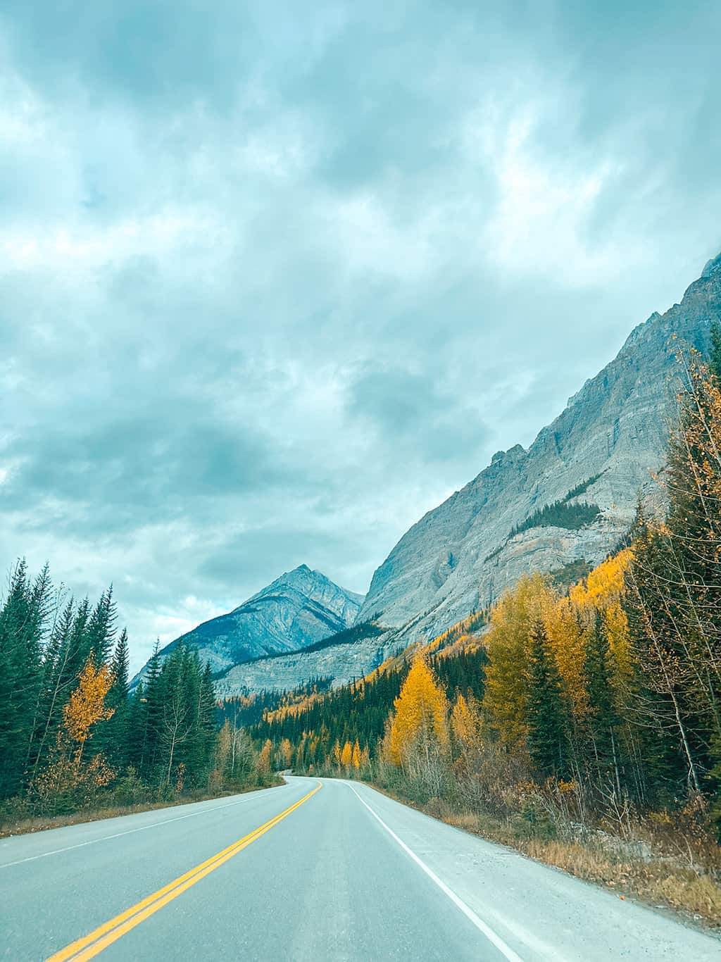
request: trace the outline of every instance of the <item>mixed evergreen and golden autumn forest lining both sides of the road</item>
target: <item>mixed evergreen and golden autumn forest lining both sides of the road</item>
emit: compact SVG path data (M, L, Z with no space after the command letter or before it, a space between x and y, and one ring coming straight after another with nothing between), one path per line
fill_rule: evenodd
M721 922L717 327L711 342L708 364L678 356L662 510L639 502L625 543L570 587L531 572L336 689L317 678L220 703L187 646L156 648L131 689L112 589L90 604L18 562L0 606L4 820L204 797L289 768L358 777L584 877L635 872L670 903L683 891ZM589 863L593 846L606 848ZM677 862L683 885L652 885L654 865Z

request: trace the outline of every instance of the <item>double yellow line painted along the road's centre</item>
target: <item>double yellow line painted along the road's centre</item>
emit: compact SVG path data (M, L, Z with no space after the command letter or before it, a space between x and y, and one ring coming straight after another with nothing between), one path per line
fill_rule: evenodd
M135 928L145 919L157 912L158 909L162 908L163 905L167 905L169 901L177 899L179 895L189 889L191 885L195 885L199 882L201 878L205 878L206 875L214 872L215 869L227 862L228 859L233 858L239 851L243 848L247 848L256 839L259 839L261 835L265 832L270 831L270 829L282 822L284 819L294 812L296 808L299 808L304 801L315 795L318 789L321 788L322 782L318 782L314 789L302 797L299 801L296 801L294 805L290 805L285 811L281 812L280 815L276 815L275 818L268 820L268 822L263 823L255 831L250 832L248 835L244 835L243 838L238 839L233 845L228 846L228 848L223 848L222 851L217 852L217 854L212 855L211 858L206 859L205 862L201 862L200 865L196 865L194 869L190 869L184 875L179 875L174 881L170 882L168 885L158 889L154 892L152 896L148 896L147 899L142 899L142 901L137 902L137 905L133 905L131 908L126 909L125 912L121 912L120 915L116 915L114 919L110 922L106 922L100 925L98 928L84 935L82 939L77 939L75 942L51 955L46 962L85 962L86 959L91 959L95 955L107 949L108 946L112 945L117 939L126 932L129 932L131 928Z

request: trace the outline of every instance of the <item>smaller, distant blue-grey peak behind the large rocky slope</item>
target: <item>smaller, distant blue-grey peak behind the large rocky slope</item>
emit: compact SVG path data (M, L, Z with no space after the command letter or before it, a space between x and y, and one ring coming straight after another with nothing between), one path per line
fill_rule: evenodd
M263 655L298 651L343 631L356 620L362 600L362 595L301 565L227 615L199 624L162 648L161 654L183 643L197 648L201 661L211 662L212 671L224 671Z

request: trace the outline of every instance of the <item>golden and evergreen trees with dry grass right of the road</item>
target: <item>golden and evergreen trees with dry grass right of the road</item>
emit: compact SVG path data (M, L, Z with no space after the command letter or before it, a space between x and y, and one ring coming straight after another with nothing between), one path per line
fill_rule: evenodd
M680 355L667 512L576 584L460 624L251 732L622 894L721 925L721 337ZM659 484L661 482L659 481Z

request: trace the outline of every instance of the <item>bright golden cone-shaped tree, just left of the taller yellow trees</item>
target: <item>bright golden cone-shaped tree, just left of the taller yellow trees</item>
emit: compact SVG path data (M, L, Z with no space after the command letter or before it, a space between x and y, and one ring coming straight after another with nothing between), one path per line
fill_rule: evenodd
M394 765L402 765L418 743L427 757L433 747L448 746L448 700L421 656L413 660L393 705L389 752Z

